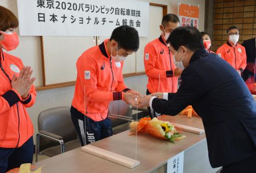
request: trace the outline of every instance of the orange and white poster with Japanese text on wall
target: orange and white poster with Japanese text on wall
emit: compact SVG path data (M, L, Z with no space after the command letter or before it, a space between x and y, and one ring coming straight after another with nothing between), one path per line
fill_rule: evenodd
M189 4L179 5L179 19L181 26L194 26L198 28L199 6Z

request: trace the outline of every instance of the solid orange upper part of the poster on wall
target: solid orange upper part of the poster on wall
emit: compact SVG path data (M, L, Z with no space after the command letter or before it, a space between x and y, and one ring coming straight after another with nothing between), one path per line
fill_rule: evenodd
M198 6L192 6L188 4L179 5L179 15L186 17L199 18L199 8Z

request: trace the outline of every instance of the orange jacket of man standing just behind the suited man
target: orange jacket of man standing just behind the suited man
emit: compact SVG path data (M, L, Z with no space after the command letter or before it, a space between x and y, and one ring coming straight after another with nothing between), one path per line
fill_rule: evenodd
M145 46L144 67L148 77L146 87L150 93L177 92L178 77L174 76L176 66L162 35Z

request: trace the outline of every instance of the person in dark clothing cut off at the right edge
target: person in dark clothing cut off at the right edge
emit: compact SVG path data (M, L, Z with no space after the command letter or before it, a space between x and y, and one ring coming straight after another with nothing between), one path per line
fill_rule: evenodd
M246 56L247 56L247 67L245 68L242 77L244 81L253 76L254 74L254 66L255 66L255 58L256 58L256 37L244 40L242 46L245 47ZM253 68L254 67L254 68Z

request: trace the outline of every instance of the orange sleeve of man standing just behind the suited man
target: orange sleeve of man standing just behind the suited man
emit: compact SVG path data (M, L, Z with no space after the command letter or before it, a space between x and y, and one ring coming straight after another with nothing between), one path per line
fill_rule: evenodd
M156 68L157 52L153 45L147 44L144 49L144 67L148 77L167 78L173 77L173 71L164 71Z

